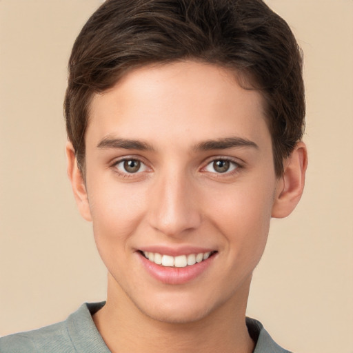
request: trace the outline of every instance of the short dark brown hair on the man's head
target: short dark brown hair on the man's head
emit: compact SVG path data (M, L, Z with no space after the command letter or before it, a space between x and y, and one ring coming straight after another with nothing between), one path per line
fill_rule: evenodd
M142 65L185 59L234 70L261 91L281 176L283 159L303 135L302 54L288 24L261 0L105 1L85 23L69 62L64 112L81 171L94 93Z

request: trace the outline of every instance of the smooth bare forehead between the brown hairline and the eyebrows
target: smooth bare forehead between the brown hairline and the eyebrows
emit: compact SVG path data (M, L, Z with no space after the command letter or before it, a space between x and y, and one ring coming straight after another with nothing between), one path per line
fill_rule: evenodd
M133 70L96 94L90 108L86 138L96 142L107 135L156 143L269 135L261 94L241 88L234 72L195 61Z

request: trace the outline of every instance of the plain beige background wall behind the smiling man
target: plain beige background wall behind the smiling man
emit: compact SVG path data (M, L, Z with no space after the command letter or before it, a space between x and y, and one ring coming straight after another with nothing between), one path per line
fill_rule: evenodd
M305 51L310 168L274 220L248 314L294 352L353 352L353 1L268 0ZM105 299L65 173L66 63L99 0L0 0L0 335Z

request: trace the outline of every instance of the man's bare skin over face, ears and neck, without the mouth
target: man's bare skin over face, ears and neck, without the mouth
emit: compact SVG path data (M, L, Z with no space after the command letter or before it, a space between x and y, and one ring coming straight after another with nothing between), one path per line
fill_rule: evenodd
M301 197L305 145L276 178L259 92L194 61L134 70L90 108L85 181L70 143L68 174L108 269L107 303L94 314L105 343L112 352L252 352L252 272L271 217L287 216ZM141 168L128 173L122 158ZM219 160L230 169L219 172ZM195 279L173 285L141 265L138 250L154 245L216 253Z

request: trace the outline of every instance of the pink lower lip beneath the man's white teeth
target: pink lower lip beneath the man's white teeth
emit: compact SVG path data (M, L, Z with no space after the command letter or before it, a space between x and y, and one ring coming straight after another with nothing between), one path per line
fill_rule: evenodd
M194 265L185 266L185 268L172 268L162 265L157 265L145 258L140 252L137 252L143 267L147 272L157 279L166 284L183 284L196 279L200 276L214 260L215 254L210 256L207 260L203 260L200 263L195 263Z

